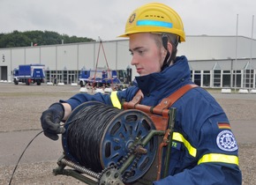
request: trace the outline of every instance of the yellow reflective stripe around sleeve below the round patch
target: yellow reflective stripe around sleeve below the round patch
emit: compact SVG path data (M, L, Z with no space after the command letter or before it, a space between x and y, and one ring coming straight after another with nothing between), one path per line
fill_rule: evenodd
M222 153L208 153L199 160L198 165L207 162L222 162L235 164L238 166L238 157L235 155L225 155Z

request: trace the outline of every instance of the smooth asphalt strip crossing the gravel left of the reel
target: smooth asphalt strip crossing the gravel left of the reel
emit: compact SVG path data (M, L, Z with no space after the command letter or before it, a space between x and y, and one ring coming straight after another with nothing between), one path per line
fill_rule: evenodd
M11 132L0 132L0 164L17 164L22 152L26 149L32 139L41 130L21 130ZM41 133L27 147L19 163L34 163L48 160L57 160L63 153L61 139L50 140Z

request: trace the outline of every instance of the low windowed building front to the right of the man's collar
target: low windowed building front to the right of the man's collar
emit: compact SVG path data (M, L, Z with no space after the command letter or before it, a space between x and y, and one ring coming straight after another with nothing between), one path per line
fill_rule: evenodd
M190 61L192 81L202 87L256 87L256 58Z

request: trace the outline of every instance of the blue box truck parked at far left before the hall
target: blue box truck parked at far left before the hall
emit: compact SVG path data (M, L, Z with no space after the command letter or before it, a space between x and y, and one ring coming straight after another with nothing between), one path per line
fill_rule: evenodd
M45 65L44 64L22 64L18 69L13 70L13 83L19 85L25 83L26 85L44 83Z

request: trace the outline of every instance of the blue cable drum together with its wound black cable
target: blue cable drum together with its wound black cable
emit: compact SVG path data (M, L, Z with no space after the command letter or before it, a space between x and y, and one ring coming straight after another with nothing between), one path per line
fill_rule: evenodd
M155 130L152 120L142 111L120 110L96 101L75 108L64 127L62 142L67 158L97 173L111 165L122 166L132 147ZM147 153L125 170L124 174L130 175L126 182L147 173L156 155L157 137L144 148Z

